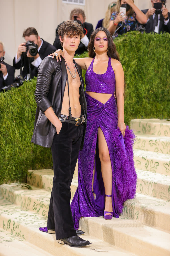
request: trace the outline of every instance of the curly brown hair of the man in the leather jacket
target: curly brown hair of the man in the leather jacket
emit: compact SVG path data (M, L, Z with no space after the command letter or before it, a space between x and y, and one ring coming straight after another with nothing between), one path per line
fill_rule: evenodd
M61 36L62 39L65 35L79 35L81 40L83 35L83 28L79 23L74 22L73 20L68 20L61 23L61 25L58 28L58 35ZM63 43L61 41L60 44L63 47Z

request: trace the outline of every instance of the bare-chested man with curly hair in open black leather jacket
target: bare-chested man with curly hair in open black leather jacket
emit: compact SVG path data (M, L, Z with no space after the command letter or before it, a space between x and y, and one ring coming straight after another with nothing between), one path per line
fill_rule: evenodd
M83 147L87 107L81 67L73 60L83 29L67 21L58 29L64 58L45 57L38 69L32 142L51 147L54 178L47 227L41 231L55 233L56 240L72 247L89 245L74 229L70 208L70 186L80 148Z

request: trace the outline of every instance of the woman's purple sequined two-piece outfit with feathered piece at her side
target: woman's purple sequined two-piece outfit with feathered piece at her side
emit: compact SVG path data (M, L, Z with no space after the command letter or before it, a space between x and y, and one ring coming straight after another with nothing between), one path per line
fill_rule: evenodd
M106 73L99 75L93 71L91 62L86 74L86 91L111 93L105 103L92 98L86 93L87 128L83 150L78 158L78 187L71 202L75 229L79 228L81 217L103 216L105 191L101 175L101 163L98 154L97 131L100 127L108 145L112 166L112 205L113 217L119 218L123 202L135 196L137 175L133 161L133 142L135 135L126 128L123 138L117 129L117 106L114 98L115 76L109 58ZM95 156L96 150L96 156ZM95 166L94 200L92 188L93 169Z

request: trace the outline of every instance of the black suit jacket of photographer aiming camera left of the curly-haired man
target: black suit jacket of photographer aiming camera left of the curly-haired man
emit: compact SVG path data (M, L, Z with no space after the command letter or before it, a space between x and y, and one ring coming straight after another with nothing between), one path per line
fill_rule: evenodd
M42 39L43 40L43 39ZM48 42L44 41L43 40L43 44L40 48L40 51L38 52L41 59L43 60L46 56L48 56L49 54L53 53L56 51L56 48L49 44ZM25 56L25 54L23 55L23 65L22 67L23 68L23 77L27 76L27 74L29 73L29 61L30 62L33 62L34 61L34 58L28 58L27 56ZM14 57L14 60L13 60L13 66L16 68L16 69L20 69L21 67L21 60L18 62L18 63L15 63L15 57ZM39 67L35 67L31 64L31 78L33 77L36 77L37 74L38 74L38 68Z

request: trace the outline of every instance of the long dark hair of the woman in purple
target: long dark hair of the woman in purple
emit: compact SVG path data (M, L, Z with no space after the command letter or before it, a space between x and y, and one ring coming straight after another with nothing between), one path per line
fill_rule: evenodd
M90 42L88 44L88 50L89 50L89 57L90 58L94 58L96 56L96 51L94 51L94 39L95 39L95 36L96 34L99 32L99 31L104 31L107 35L107 39L108 39L108 49L107 49L107 55L110 57L110 58L113 58L113 59L116 59L116 60L119 60L120 61L120 58L119 58L119 54L118 52L116 51L116 46L113 42L113 39L112 39L112 35L110 34L109 30L106 29L106 28L97 28L95 31L93 31L93 33L91 34L91 37L90 37ZM124 77L125 78L125 77ZM124 79L124 96L125 96L125 89L126 89L126 82L125 82L125 79Z

